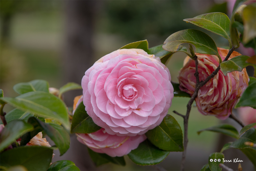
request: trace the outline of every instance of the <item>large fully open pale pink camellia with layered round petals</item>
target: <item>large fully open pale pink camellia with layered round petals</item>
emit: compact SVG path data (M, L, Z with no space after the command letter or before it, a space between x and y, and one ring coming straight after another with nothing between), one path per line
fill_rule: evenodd
M119 49L93 64L82 79L84 106L111 135L136 136L159 125L172 103L168 68L142 49Z

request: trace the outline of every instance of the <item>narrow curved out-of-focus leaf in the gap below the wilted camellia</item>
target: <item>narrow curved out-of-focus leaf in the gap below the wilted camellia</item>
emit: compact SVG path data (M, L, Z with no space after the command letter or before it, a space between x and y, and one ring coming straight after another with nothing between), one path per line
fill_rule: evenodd
M231 137L234 137L234 138L238 138L239 136L239 133L238 131L236 130L236 128L234 128L232 125L228 125L228 124L223 124L223 125L218 125L218 126L213 126L213 127L209 127L209 128L206 128L206 129L203 129L203 130L199 130L197 133L198 135L205 131L205 130L208 130L208 131L212 131L212 132L218 132L218 133L222 133L224 135L227 135L227 136L231 136Z

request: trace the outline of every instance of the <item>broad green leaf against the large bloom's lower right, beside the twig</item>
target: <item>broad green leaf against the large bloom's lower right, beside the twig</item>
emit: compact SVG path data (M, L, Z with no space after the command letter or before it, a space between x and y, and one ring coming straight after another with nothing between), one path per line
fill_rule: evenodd
M160 125L145 133L148 140L166 151L184 151L183 134L180 125L171 115L163 118Z

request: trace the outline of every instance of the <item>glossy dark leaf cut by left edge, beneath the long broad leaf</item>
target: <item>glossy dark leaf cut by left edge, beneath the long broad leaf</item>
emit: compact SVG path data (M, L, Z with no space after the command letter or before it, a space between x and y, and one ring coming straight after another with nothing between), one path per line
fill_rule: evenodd
M9 122L0 133L0 151L3 151L11 145L12 142L15 142L15 140L20 138L24 133L33 129L32 125L21 120Z

